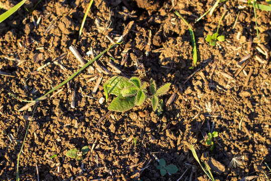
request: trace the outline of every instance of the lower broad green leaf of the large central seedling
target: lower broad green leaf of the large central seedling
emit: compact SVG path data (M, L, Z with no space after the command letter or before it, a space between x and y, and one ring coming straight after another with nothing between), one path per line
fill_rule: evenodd
M135 105L135 96L134 97L122 97L119 95L108 106L109 111L116 112L125 112L132 109Z

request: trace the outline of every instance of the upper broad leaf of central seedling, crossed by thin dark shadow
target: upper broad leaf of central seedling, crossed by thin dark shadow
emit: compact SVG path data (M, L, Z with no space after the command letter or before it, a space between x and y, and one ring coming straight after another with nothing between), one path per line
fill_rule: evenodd
M131 83L128 78L116 75L108 79L104 86L107 88L107 92L109 94L119 96L123 88L130 87L132 85L133 83Z

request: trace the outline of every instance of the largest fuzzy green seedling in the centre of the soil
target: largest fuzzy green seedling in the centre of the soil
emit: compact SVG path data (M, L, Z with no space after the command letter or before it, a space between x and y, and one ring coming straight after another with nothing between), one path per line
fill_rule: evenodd
M131 77L130 79L124 76L113 76L108 79L104 85L104 94L106 102L108 101L108 94L117 96L108 106L108 110L116 112L125 112L132 109L134 106L142 105L147 98L152 99L153 110L157 111L161 100L159 96L166 94L169 91L171 83L166 83L159 89L156 88L156 83L153 79L150 81L151 95L147 95L147 82L141 83L138 77ZM159 106L160 105L160 106Z

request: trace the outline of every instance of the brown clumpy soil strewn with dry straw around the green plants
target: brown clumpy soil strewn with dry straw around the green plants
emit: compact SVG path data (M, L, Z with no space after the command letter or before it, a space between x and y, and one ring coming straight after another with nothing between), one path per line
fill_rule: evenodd
M0 2L2 14L19 1ZM271 166L269 12L256 11L258 42L253 8L242 1L227 1L195 23L214 1L97 0L78 40L89 1L47 0L33 10L37 2L27 2L0 24L0 180L16 179L17 155L29 123L20 180L208 180L191 144L216 180L267 180L264 173L270 178L264 164ZM216 32L224 6L219 33L225 41L210 46L205 37ZM192 69L188 27L175 10L194 29L198 63ZM106 36L116 41L123 33L123 42L108 52L114 61L103 55L91 65L94 69L83 70L40 102L32 122L34 107L18 111L26 103L8 93L38 98L80 68L70 45L89 61L90 50L98 54L111 44ZM258 44L266 56L256 49ZM103 83L118 74L109 61L127 77L153 78L158 86L171 82L162 98L164 103L173 98L172 103L165 104L160 116L150 102L125 113L109 112L112 97L99 103ZM212 151L205 144L211 130L219 133ZM65 155L85 145L90 150L83 160ZM157 158L176 165L178 172L161 176Z

